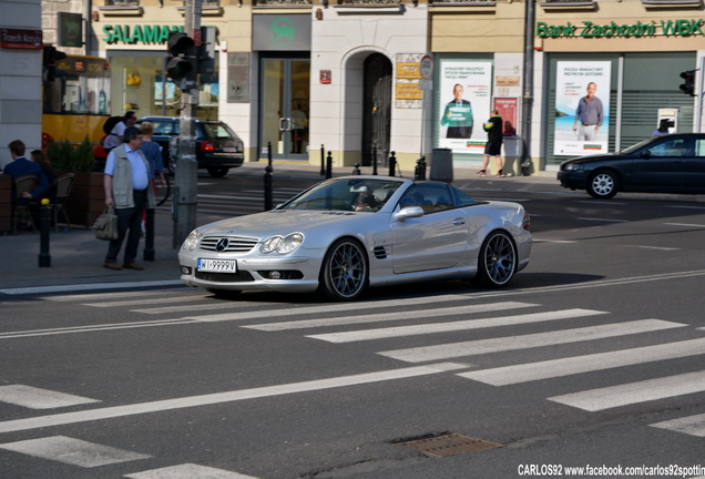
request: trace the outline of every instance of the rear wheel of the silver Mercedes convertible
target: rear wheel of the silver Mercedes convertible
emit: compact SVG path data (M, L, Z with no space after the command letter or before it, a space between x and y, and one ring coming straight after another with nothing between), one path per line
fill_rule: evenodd
M490 234L480 247L477 282L482 286L504 286L517 272L517 248L505 232Z

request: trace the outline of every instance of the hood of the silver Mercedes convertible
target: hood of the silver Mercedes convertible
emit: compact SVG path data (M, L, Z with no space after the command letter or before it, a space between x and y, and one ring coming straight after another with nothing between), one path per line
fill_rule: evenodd
M210 223L198 230L203 235L207 236L236 235L263 238L272 234L286 235L294 232L309 231L318 226L328 227L341 222L361 222L376 214L379 213L272 210Z

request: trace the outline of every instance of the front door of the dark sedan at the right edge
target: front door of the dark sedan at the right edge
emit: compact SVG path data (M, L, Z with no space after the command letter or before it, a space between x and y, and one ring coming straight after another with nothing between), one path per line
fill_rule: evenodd
M683 136L653 143L634 161L632 183L642 191L677 191L685 186L685 167L691 154Z

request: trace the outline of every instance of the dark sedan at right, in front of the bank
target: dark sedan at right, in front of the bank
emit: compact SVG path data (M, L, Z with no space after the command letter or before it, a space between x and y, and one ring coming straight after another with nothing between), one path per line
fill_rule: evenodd
M705 133L654 136L613 154L564 161L562 186L596 198L617 192L705 193Z

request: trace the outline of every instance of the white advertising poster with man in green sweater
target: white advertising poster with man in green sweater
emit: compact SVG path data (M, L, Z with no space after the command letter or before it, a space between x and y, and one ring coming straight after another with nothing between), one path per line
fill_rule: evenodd
M487 133L482 122L490 116L492 63L441 61L439 70L438 147L453 153L482 154Z

